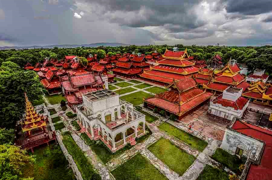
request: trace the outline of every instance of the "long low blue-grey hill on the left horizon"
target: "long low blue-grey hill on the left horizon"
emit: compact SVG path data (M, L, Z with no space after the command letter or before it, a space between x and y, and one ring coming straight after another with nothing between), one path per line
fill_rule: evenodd
M130 44L124 43L92 43L92 44L55 44L55 45L47 45L47 46L4 46L0 47L0 50L4 49L34 49L34 48L73 48L73 47L99 47L99 46L129 46Z

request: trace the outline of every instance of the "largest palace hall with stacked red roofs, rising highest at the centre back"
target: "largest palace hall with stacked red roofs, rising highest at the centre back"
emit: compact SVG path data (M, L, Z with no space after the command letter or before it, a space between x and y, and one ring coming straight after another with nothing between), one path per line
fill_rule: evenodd
M162 57L162 60L156 61L158 65L151 66L150 70L144 71L140 77L169 85L173 79L186 79L199 71L194 67L194 62L187 60L193 60L193 56L189 56L187 50L178 51L177 47L174 47L173 51L166 49Z

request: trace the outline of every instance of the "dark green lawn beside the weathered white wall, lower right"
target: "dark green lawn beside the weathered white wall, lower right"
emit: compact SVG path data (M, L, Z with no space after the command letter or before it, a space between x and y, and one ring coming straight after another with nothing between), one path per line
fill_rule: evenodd
M239 166L245 163L245 159L239 159L238 157L233 156L220 148L216 149L215 153L212 155L212 158L224 166L227 166L233 172L239 172Z

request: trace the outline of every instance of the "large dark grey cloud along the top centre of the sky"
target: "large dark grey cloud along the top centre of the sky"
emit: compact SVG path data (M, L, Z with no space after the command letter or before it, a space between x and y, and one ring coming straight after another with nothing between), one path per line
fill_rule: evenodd
M90 5L100 7L100 17L104 14L110 22L128 27L169 25L169 31L180 32L206 24L199 20L192 8L200 0L85 0Z

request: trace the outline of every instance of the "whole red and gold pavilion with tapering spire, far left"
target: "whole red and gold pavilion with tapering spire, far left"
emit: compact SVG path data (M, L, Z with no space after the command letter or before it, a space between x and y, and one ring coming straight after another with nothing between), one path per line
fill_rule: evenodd
M22 149L31 149L44 143L56 140L56 134L50 128L47 117L38 114L28 96L25 95L25 117L21 122L22 130L15 139L15 144L21 146Z

